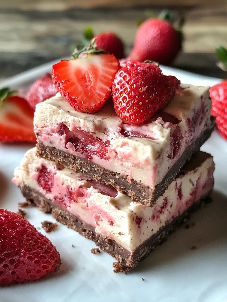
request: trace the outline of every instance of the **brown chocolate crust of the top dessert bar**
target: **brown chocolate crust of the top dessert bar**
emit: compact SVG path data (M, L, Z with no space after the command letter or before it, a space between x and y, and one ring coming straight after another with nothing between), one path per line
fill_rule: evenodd
M39 140L36 145L36 155L47 160L59 162L61 165L75 173L80 173L84 176L90 177L103 185L112 186L122 194L130 196L133 201L138 201L146 207L151 207L156 200L164 194L168 186L176 178L176 175L179 173L185 162L191 159L191 156L194 153L199 151L202 144L210 137L212 131L213 128L205 130L200 137L198 137L197 140L195 140L191 146L184 151L178 161L162 179L162 182L156 185L155 189L144 186L142 183L136 182L133 179L131 180L131 183L129 183L127 181L127 175L124 176L104 169L85 158L79 158L72 154L65 153L55 147L45 146Z

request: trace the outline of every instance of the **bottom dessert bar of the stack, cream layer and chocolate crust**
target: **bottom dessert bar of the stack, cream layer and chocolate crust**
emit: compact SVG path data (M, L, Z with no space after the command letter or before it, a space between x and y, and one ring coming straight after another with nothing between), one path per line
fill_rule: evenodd
M153 207L35 153L35 148L29 150L15 170L14 182L24 197L115 257L115 272L137 266L208 200L213 188L213 158L204 152L184 166Z

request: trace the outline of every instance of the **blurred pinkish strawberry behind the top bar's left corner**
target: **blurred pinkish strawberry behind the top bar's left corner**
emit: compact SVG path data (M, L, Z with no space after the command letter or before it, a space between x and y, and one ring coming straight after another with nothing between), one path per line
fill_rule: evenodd
M58 92L50 73L37 79L30 87L27 93L27 100L34 110L36 105L52 98Z

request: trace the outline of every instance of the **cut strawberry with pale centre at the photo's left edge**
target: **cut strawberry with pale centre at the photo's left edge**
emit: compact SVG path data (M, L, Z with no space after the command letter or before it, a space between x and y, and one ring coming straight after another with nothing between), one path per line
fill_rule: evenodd
M24 98L12 96L9 88L0 90L0 141L36 142L34 112Z

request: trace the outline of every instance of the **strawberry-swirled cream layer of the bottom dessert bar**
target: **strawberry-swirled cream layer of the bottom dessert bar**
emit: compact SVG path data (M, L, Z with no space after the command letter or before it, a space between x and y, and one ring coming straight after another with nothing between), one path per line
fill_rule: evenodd
M136 249L213 188L213 158L204 152L194 156L151 208L133 202L119 192L116 197L105 195L103 190L81 180L80 175L63 169L56 162L38 158L35 153L33 148L25 154L20 167L15 169L14 182L40 192L93 226L97 233L114 239L129 251ZM46 191L37 182L42 165L54 175L51 191ZM69 190L73 193L71 197Z

